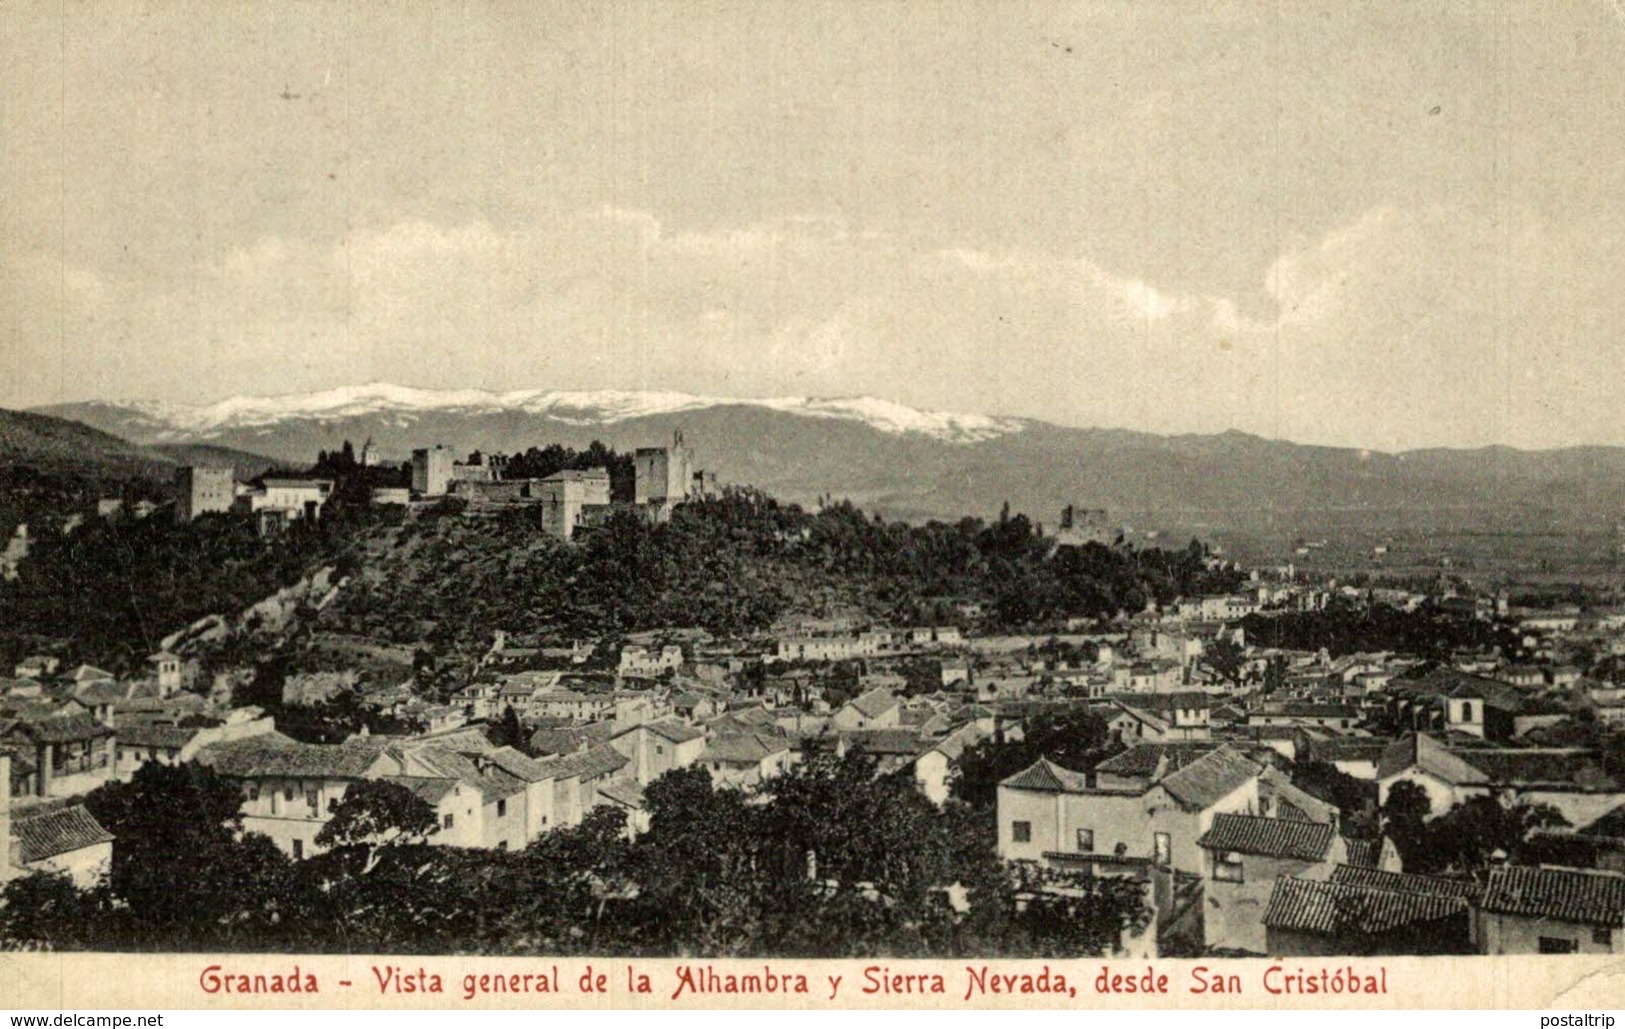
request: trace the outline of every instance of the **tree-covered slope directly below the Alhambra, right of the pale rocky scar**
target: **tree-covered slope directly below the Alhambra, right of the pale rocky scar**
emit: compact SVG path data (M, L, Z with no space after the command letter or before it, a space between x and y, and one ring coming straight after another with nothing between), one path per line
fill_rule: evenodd
M826 603L931 621L951 598L982 603L993 627L1024 627L1138 611L1150 598L1235 582L1233 572L1207 569L1199 546L1051 553L1020 515L993 525L887 523L850 504L806 512L730 489L661 525L613 517L574 546L541 536L523 514L424 519L328 618L396 642L474 645L496 624L603 636L699 626L731 636L764 629L796 605Z

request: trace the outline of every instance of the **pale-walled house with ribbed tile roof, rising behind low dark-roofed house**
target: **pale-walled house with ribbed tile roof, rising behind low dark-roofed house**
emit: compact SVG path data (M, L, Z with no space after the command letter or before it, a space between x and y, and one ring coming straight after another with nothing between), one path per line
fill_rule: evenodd
M1202 850L1202 940L1209 949L1269 953L1264 914L1277 879L1326 879L1347 849L1336 826L1217 814Z

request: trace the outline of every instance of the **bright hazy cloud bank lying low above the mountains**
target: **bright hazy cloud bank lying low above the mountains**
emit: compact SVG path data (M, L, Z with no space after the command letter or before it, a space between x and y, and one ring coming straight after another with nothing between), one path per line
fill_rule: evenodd
M1079 254L918 247L837 216L673 231L601 206L266 236L154 294L37 257L8 262L6 283L36 297L39 340L70 340L58 392L871 393L1394 449L1625 442L1609 395L1625 367L1599 343L1625 315L1607 271L1620 257L1529 213L1380 206L1294 241L1253 294L1211 296Z

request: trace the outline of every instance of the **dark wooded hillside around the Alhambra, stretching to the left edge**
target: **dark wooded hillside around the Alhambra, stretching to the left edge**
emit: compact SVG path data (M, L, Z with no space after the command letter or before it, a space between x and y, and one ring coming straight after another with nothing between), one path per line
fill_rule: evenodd
M510 458L509 475L587 465L608 467L618 494L629 489L630 458L601 445L531 449ZM192 525L93 519L42 541L23 577L0 587L0 660L55 645L73 660L130 670L166 634L203 614L234 614L318 564L359 572L323 613L323 627L439 657L484 647L497 626L600 637L699 626L734 636L824 606L933 623L975 601L991 629L1043 629L1237 584L1235 572L1209 569L1194 543L1055 549L1022 515L907 525L847 502L808 512L754 489L686 504L660 525L618 514L569 546L544 536L533 510L466 519L460 502L398 528L398 510L367 509L364 494L400 468L361 468L341 450L322 455L317 470L340 483L322 522L276 540L219 515Z

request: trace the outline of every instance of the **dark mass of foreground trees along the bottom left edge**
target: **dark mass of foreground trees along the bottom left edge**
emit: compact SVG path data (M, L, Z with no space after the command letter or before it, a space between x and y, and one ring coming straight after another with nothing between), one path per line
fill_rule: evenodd
M88 800L119 837L110 876L89 891L41 875L10 883L0 938L60 949L1084 956L1146 923L1134 883L1034 896L998 860L985 813L938 811L858 756L812 756L760 797L713 790L700 769L671 772L650 784L650 827L635 840L619 811L596 808L514 853L421 845L432 819L410 810L416 798L377 793L358 792L354 811L340 805L340 847L291 862L240 836L231 784L145 766ZM951 886L965 904L949 901Z

